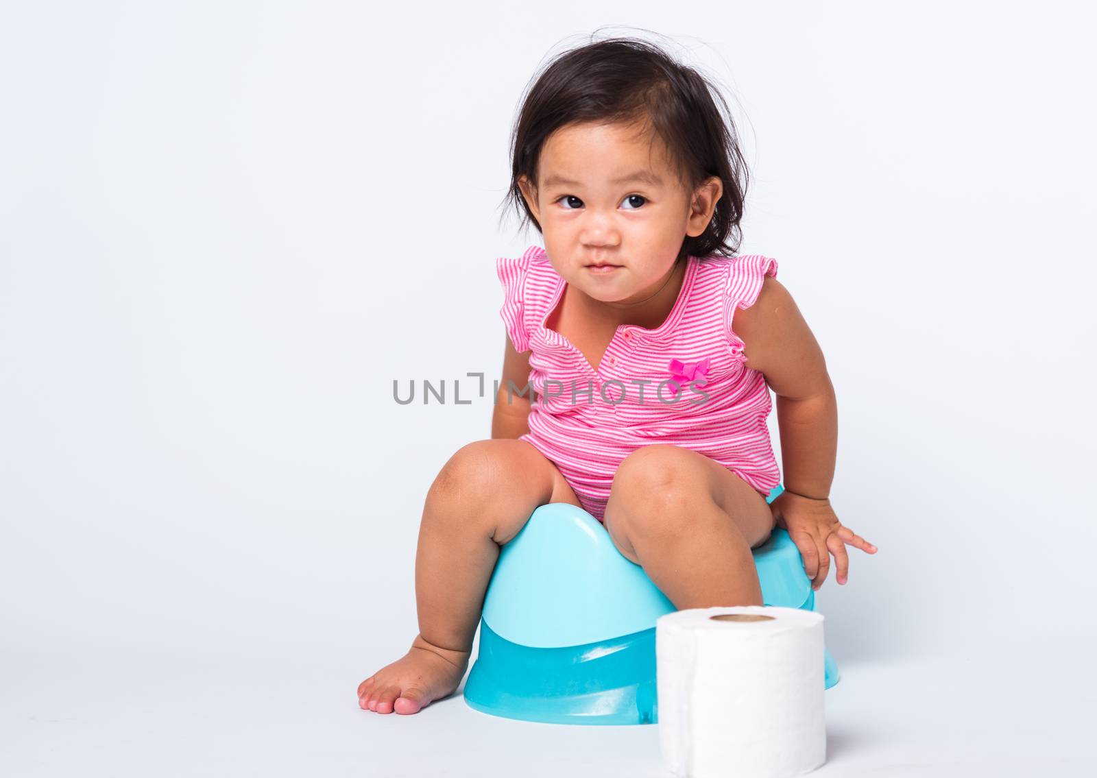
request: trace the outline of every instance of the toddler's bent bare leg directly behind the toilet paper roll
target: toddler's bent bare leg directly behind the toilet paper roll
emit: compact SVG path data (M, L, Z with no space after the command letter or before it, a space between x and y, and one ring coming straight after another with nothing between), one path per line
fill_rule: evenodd
M750 549L773 529L766 498L708 456L646 446L618 469L606 506L618 550L679 610L761 605Z

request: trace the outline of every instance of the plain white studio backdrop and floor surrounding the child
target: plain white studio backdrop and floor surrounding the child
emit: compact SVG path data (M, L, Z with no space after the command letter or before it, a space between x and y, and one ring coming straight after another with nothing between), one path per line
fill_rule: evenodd
M518 100L598 32L730 94L839 404L822 775L1073 775L1097 701L1086 3L8 3L0 771L663 775L654 726L358 708L498 375ZM773 421L774 444L776 418ZM426 748L423 745L426 744ZM4 764L7 763L7 764Z

